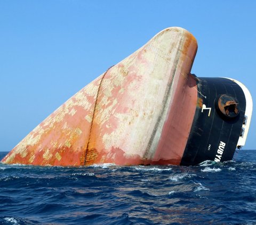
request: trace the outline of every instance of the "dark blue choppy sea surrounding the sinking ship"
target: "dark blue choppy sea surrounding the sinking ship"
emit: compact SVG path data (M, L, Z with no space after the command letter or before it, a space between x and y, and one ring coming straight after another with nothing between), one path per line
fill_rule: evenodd
M198 166L0 164L0 224L256 224L256 151Z

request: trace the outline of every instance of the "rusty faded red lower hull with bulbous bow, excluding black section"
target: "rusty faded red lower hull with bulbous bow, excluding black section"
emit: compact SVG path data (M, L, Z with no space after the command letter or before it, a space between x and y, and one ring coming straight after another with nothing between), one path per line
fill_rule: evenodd
M68 99L2 162L180 164L197 106L190 75L196 51L187 30L159 32Z

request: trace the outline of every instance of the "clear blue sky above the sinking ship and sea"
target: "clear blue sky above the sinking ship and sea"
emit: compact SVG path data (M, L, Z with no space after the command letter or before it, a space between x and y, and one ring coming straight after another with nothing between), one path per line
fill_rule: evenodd
M0 1L0 151L167 27L198 41L198 77L256 99L256 1ZM244 149L255 149L255 110Z

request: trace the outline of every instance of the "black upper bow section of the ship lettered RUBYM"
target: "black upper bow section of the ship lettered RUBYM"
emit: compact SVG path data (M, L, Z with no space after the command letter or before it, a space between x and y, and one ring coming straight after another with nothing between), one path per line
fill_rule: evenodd
M232 160L243 135L246 99L227 78L196 78L197 107L181 165Z

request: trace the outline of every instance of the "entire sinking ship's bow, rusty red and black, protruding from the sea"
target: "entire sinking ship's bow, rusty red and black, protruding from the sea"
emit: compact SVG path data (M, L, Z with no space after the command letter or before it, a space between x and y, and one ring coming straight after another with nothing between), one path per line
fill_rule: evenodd
M251 118L250 93L238 81L191 75L196 51L196 39L187 30L159 32L68 99L2 162L193 165L232 159L249 129L250 119L243 123L246 110ZM223 112L215 106L222 94L235 102L226 116L227 106ZM220 141L225 146L219 147Z

